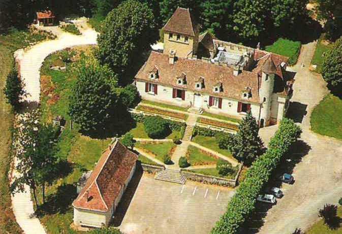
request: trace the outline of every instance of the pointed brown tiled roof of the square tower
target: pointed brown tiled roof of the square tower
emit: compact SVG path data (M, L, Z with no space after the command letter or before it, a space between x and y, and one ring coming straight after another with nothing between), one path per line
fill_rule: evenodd
M196 31L198 31L198 24L192 17L189 9L178 7L163 29L194 37Z

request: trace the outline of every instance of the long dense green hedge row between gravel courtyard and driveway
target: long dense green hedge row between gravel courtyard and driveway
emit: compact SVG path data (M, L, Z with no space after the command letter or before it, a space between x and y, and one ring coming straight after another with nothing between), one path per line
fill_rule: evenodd
M268 182L272 171L300 134L301 129L292 120L284 119L280 123L266 153L261 155L247 171L246 178L230 200L226 213L211 230L212 234L235 234L241 231L244 221L254 212L256 198Z

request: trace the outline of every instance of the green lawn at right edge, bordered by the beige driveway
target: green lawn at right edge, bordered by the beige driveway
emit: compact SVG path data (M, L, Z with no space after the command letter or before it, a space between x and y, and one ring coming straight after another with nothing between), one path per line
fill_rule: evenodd
M328 94L317 105L311 115L313 131L338 139L342 139L342 100Z

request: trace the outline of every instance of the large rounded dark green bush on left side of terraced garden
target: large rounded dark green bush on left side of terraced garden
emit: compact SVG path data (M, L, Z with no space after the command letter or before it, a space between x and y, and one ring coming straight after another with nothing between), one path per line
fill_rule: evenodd
M163 139L170 133L169 125L162 117L147 117L144 120L144 127L148 137L152 139Z

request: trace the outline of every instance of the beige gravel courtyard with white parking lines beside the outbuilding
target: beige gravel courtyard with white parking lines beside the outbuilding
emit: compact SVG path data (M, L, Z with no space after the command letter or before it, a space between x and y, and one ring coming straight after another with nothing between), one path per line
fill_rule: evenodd
M234 191L189 180L179 185L143 174L119 228L130 234L207 234Z

